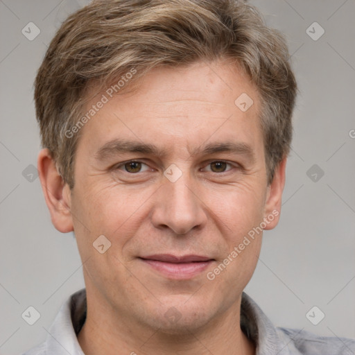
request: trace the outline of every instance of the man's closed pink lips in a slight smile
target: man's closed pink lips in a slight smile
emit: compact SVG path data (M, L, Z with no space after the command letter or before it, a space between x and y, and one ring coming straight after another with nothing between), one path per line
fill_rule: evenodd
M169 279L191 279L205 271L215 259L201 255L178 257L172 254L156 254L139 257L146 266Z

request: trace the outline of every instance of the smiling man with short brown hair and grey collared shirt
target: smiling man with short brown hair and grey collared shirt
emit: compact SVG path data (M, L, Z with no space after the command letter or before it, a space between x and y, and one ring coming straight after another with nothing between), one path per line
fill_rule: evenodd
M242 1L93 1L35 83L38 168L85 290L32 354L352 354L243 289L281 210L296 83Z

